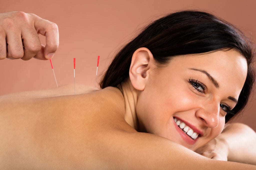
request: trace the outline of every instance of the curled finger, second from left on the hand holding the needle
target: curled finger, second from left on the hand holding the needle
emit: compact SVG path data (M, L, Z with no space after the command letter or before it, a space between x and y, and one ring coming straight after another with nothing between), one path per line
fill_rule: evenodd
M24 56L23 44L21 39L20 32L11 32L9 30L6 33L6 42L7 42L7 58L10 59L19 59Z

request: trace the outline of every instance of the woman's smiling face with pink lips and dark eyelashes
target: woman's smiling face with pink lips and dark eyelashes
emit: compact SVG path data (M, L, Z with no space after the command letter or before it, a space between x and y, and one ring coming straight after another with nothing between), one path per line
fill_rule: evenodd
M196 150L223 130L246 80L247 62L231 49L178 56L148 74L136 108L141 130Z

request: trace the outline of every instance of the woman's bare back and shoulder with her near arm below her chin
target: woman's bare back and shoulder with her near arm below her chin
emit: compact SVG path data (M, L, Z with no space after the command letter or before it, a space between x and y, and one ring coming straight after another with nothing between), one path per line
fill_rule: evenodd
M124 98L114 87L76 96L33 94L0 98L1 169L177 169L184 160L189 169L199 163L205 169L255 168L137 132L125 122Z

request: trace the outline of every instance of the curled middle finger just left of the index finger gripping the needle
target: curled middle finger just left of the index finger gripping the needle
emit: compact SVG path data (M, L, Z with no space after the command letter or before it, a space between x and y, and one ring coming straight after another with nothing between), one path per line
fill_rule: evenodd
M23 29L22 40L24 45L24 56L22 57L23 60L33 58L41 50L41 42L34 28Z

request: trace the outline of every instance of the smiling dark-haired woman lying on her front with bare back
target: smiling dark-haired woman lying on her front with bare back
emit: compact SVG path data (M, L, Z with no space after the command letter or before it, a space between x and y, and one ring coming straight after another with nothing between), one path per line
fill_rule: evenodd
M205 12L170 14L116 55L95 94L3 96L0 165L255 169L214 160L256 164L255 132L242 124L223 130L248 100L252 57L246 39L225 21Z

